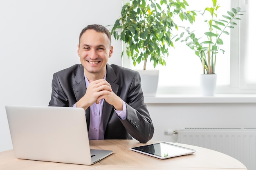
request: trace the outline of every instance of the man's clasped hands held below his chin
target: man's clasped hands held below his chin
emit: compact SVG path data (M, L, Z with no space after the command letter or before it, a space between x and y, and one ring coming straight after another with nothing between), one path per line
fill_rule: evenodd
M76 103L76 107L84 108L85 110L92 106L94 102L99 104L101 99L105 99L108 104L115 107L116 110L123 110L123 101L117 96L105 79L89 81L85 95Z

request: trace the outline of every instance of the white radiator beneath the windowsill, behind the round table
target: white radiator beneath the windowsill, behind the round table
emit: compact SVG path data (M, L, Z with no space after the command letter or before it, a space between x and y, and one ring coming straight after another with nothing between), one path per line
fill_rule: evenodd
M256 170L256 127L181 128L178 142L225 153L242 162L248 170Z

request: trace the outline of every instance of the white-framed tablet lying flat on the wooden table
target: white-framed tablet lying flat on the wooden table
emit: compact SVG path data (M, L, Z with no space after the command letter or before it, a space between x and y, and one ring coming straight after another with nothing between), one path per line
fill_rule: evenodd
M178 157L182 155L190 155L196 152L196 150L194 149L169 144L166 142L138 146L138 147L130 148L130 150L143 153L145 155L149 155L152 157L156 157L159 159Z

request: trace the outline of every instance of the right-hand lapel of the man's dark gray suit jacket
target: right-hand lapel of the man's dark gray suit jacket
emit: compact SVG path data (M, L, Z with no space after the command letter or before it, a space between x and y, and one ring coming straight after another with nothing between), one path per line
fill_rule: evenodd
M114 70L112 69L112 67L109 64L107 64L106 80L107 80L108 83L110 83L112 91L115 94L117 94L119 85L114 83L117 80L117 76L116 76ZM106 132L108 120L110 118L110 115L111 115L113 109L114 108L113 108L112 105L110 105L110 104L108 104L108 102L104 101L103 110L102 110L102 112L103 112L102 120L103 120L104 132Z

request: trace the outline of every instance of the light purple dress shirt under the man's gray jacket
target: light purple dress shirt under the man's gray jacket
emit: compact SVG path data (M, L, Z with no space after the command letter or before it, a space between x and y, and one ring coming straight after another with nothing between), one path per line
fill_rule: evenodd
M106 79L107 71L105 73L104 79ZM89 86L89 80L85 76L85 84ZM89 140L101 140L104 139L104 129L102 121L102 109L103 109L104 99L101 99L99 104L92 104L90 106L90 127L88 131ZM74 104L76 107L76 104ZM115 108L114 108L115 109ZM126 104L123 101L123 110L115 110L120 119L126 119ZM86 113L85 113L86 114Z

